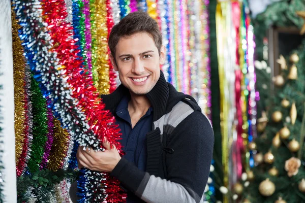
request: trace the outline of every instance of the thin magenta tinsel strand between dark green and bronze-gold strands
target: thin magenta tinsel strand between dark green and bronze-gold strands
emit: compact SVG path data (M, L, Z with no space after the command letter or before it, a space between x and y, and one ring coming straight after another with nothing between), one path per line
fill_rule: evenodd
M50 151L51 151L51 147L53 144L53 139L54 139L54 123L53 123L53 114L52 114L52 110L49 108L49 106L51 105L51 101L50 99L46 100L46 104L47 104L47 125L48 125L48 132L47 132L47 142L45 144L45 150L44 150L44 154L42 156L42 160L41 160L41 164L39 169L42 170L42 168L45 168L48 162L48 158L50 155Z

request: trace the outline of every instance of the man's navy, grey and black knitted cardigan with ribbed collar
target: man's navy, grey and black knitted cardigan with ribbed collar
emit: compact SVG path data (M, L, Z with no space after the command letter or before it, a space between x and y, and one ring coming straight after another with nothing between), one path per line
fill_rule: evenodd
M120 85L102 95L114 112L129 90ZM111 176L146 202L203 202L214 146L214 133L195 99L177 92L161 72L146 94L154 108L153 130L146 134L146 172L121 158Z

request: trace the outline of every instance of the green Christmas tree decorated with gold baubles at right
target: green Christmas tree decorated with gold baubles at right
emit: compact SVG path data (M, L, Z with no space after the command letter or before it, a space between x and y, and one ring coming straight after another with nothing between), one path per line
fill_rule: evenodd
M305 202L305 43L282 60L274 78L272 98L263 133L251 146L257 151L249 171L244 202Z

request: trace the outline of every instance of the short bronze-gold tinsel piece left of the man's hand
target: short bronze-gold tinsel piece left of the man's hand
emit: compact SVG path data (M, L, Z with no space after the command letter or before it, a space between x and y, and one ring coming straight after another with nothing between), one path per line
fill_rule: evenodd
M69 146L69 133L60 126L60 122L54 119L54 140L48 160L48 170L57 171L66 157Z

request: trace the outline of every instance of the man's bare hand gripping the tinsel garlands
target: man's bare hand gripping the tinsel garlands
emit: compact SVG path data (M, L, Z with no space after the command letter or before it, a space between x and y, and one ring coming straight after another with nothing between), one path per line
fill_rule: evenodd
M77 149L78 168L86 167L92 171L111 173L118 161L121 159L117 149L105 138L103 146L104 152L96 152L93 149L83 150L83 147Z

